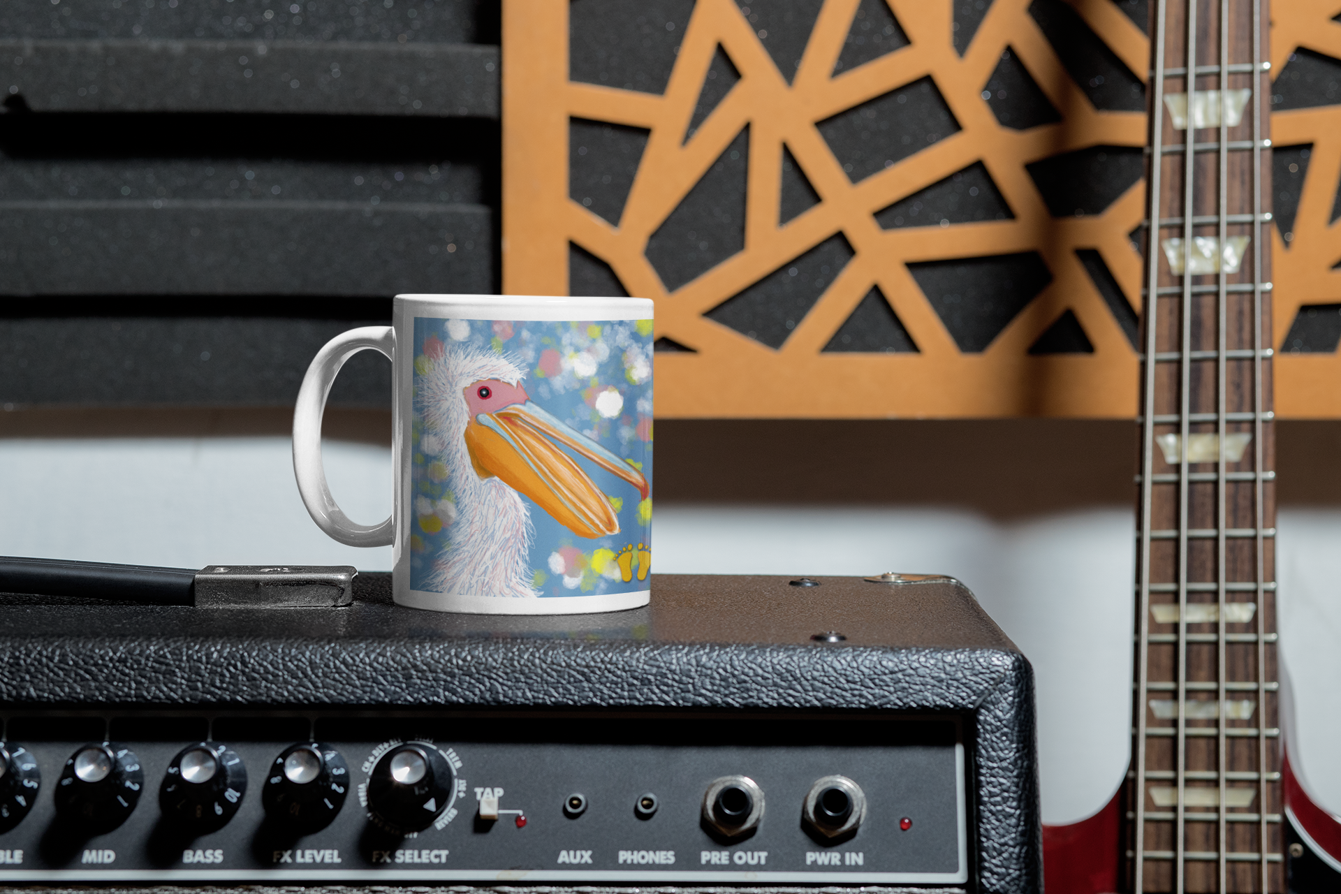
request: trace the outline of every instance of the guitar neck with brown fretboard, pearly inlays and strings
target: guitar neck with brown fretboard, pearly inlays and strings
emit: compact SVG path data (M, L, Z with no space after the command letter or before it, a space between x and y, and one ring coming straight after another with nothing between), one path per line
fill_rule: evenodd
M1266 0L1157 0L1134 891L1283 891Z

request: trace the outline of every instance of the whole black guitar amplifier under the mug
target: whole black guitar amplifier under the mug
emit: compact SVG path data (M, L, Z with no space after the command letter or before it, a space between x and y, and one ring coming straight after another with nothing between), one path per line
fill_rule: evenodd
M949 578L0 602L0 885L1042 887L1031 670Z

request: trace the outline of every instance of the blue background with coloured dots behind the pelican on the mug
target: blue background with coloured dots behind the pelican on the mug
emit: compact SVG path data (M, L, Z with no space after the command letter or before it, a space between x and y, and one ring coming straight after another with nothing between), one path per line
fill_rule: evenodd
M449 351L492 351L511 361L531 402L597 441L652 483L652 320L468 320L414 318L409 524L410 588L436 592L433 572L451 550L456 520L448 434L425 421L421 385ZM539 598L642 592L652 566L652 497L567 450L607 495L620 532L577 536L518 492L534 525L527 563ZM506 485L504 485L506 487ZM489 595L489 594L477 594Z

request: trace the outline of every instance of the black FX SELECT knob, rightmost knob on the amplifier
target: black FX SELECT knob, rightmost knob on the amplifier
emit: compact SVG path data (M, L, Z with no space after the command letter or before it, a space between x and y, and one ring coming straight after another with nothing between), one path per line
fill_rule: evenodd
M389 832L417 832L433 824L452 797L452 765L429 743L397 745L377 761L367 780L367 808Z

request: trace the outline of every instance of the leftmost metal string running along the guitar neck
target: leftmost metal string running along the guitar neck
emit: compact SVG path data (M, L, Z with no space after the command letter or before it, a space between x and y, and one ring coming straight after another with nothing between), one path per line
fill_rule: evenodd
M1155 15L1155 71L1164 71L1164 36L1165 36L1165 23L1164 13L1167 0L1156 0L1156 15ZM1195 71L1195 70L1193 70ZM1153 79L1153 95L1151 103L1151 145L1155 151L1151 155L1151 229L1147 235L1145 245L1145 268L1148 285L1143 292L1143 310L1145 311L1145 357L1155 357L1156 354L1156 332L1159 328L1157 314L1149 300L1149 295L1159 295L1159 261L1157 261L1157 239L1156 235L1160 232L1160 189L1163 181L1163 172L1160 170L1160 158L1163 154L1160 149L1164 145L1164 79ZM1184 216L1192 209L1187 209ZM1155 457L1153 450L1149 448L1155 444L1155 363L1145 363L1143 369L1144 374L1144 407L1143 407L1143 444L1147 449L1141 453L1141 531L1151 529L1151 497L1153 496L1153 485L1151 476L1155 473ZM1185 444L1185 441L1184 441ZM1187 470L1184 469L1184 473ZM1141 578L1140 578L1140 599L1141 599L1141 621L1137 623L1137 639L1140 647L1137 650L1137 680L1140 684L1140 698L1133 706L1133 713L1136 714L1136 765L1145 769L1147 760L1147 736L1145 736L1145 701L1147 701L1147 682L1149 681L1149 623L1145 618L1151 614L1151 539L1148 536L1141 536ZM1145 787L1137 784L1136 787L1136 854L1145 852ZM1145 860L1143 858L1134 858L1134 891L1140 894L1145 890Z

